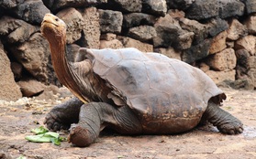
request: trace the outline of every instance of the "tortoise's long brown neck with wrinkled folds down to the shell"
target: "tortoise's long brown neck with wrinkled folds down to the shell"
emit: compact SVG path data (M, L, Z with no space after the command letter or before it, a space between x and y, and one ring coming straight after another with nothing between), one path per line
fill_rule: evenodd
M96 90L102 90L102 88L104 88L101 86L102 82L99 82L99 79L95 80L93 73L88 72L88 70L78 69L74 67L75 64L67 60L66 37L56 37L50 39L49 42L53 69L61 84L71 90L72 93L83 102L101 101L97 94L103 92L95 92L95 89L92 88L92 83L97 87ZM84 72L88 72L86 75L87 78L85 79L83 78Z

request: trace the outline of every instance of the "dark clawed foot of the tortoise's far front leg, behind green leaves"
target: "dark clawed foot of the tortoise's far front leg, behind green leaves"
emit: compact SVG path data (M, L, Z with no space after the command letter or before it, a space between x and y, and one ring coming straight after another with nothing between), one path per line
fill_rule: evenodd
M61 113L58 113L57 111L50 111L46 117L44 124L47 125L47 128L49 130L52 130L54 132L63 130L68 130L70 127L69 123L61 122Z

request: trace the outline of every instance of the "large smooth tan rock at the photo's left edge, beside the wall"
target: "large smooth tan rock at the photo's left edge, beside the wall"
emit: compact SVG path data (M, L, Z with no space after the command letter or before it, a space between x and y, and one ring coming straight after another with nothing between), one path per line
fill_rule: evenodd
M14 74L11 71L11 64L7 58L4 46L0 42L0 100L17 101L22 97L21 91L14 80Z

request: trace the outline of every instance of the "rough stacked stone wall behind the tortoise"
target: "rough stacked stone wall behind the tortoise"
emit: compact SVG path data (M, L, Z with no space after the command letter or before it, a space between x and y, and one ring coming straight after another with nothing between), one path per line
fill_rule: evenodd
M181 59L216 83L256 87L255 0L5 0L0 2L0 66L7 69L1 68L0 99L21 96L16 89L17 98L3 98L10 91L6 81L28 97L45 85L61 85L39 32L50 12L68 26L70 60L80 47L133 47Z

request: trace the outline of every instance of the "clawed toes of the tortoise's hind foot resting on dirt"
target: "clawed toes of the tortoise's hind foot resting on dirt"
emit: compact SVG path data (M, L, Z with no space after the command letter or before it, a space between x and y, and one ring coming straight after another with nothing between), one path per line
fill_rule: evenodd
M241 122L228 122L217 126L219 132L226 134L239 134L243 132L243 127Z

